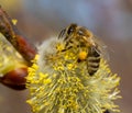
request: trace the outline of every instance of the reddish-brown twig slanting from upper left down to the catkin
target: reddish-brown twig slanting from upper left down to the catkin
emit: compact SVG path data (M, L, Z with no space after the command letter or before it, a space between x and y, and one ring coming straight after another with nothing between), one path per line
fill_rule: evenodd
M13 45L13 47L23 56L23 58L31 65L31 59L36 54L33 47L25 37L19 32L16 26L12 23L7 12L0 7L0 32Z

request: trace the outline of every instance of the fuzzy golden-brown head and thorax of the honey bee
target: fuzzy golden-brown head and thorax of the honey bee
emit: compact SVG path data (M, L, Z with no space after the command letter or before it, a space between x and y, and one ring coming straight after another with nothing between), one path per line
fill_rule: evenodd
M95 46L92 33L84 26L79 26L75 23L70 24L68 27L64 29L58 38L63 37L66 42L66 46Z

